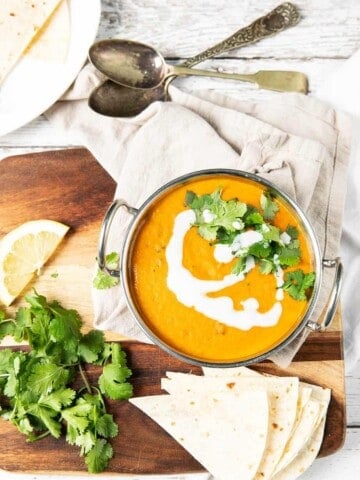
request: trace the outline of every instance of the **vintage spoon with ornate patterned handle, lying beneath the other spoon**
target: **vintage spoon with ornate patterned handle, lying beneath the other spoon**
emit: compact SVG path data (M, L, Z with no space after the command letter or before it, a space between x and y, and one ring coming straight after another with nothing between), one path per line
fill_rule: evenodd
M181 66L189 67L217 54L254 43L296 25L299 19L300 15L296 7L291 3L283 3L267 15L241 28L224 41L185 60ZM117 64L117 59L113 58L113 61ZM143 111L150 103L165 100L167 86L174 78L174 76L167 77L166 82L160 83L151 90L134 90L107 80L92 92L89 98L89 106L103 115L134 116Z

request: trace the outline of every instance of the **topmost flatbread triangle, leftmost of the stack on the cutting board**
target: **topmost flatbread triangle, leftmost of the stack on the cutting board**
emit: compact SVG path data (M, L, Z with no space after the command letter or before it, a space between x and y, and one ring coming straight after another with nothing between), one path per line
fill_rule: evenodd
M264 453L268 429L265 389L234 395L157 395L130 399L217 480L250 480Z

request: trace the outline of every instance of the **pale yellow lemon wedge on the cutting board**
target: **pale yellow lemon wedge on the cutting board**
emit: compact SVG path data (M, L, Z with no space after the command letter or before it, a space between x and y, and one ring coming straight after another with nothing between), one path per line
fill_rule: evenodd
M22 292L58 247L66 232L53 220L34 220L0 240L0 301L8 306Z

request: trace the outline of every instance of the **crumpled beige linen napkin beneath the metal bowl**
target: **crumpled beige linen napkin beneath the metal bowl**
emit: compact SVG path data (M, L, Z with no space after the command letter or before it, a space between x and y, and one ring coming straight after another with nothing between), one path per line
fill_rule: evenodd
M113 176L117 198L139 207L179 175L219 167L246 170L294 198L314 226L323 258L337 256L351 130L345 115L297 94L254 103L211 92L195 97L172 87L172 102L154 103L129 120L113 119L92 112L83 100L99 78L85 67L47 116L71 131ZM117 214L109 252L120 251L129 221L125 212ZM324 270L313 320L327 303L333 274ZM94 290L93 301L97 328L150 341L128 311L121 285ZM306 329L272 360L288 365L307 334Z

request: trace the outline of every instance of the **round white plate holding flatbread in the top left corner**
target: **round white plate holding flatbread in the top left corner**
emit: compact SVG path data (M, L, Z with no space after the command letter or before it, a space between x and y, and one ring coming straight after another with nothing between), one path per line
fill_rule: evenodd
M101 0L67 0L71 37L65 63L24 57L0 86L0 136L47 110L67 90L86 61L100 21Z

